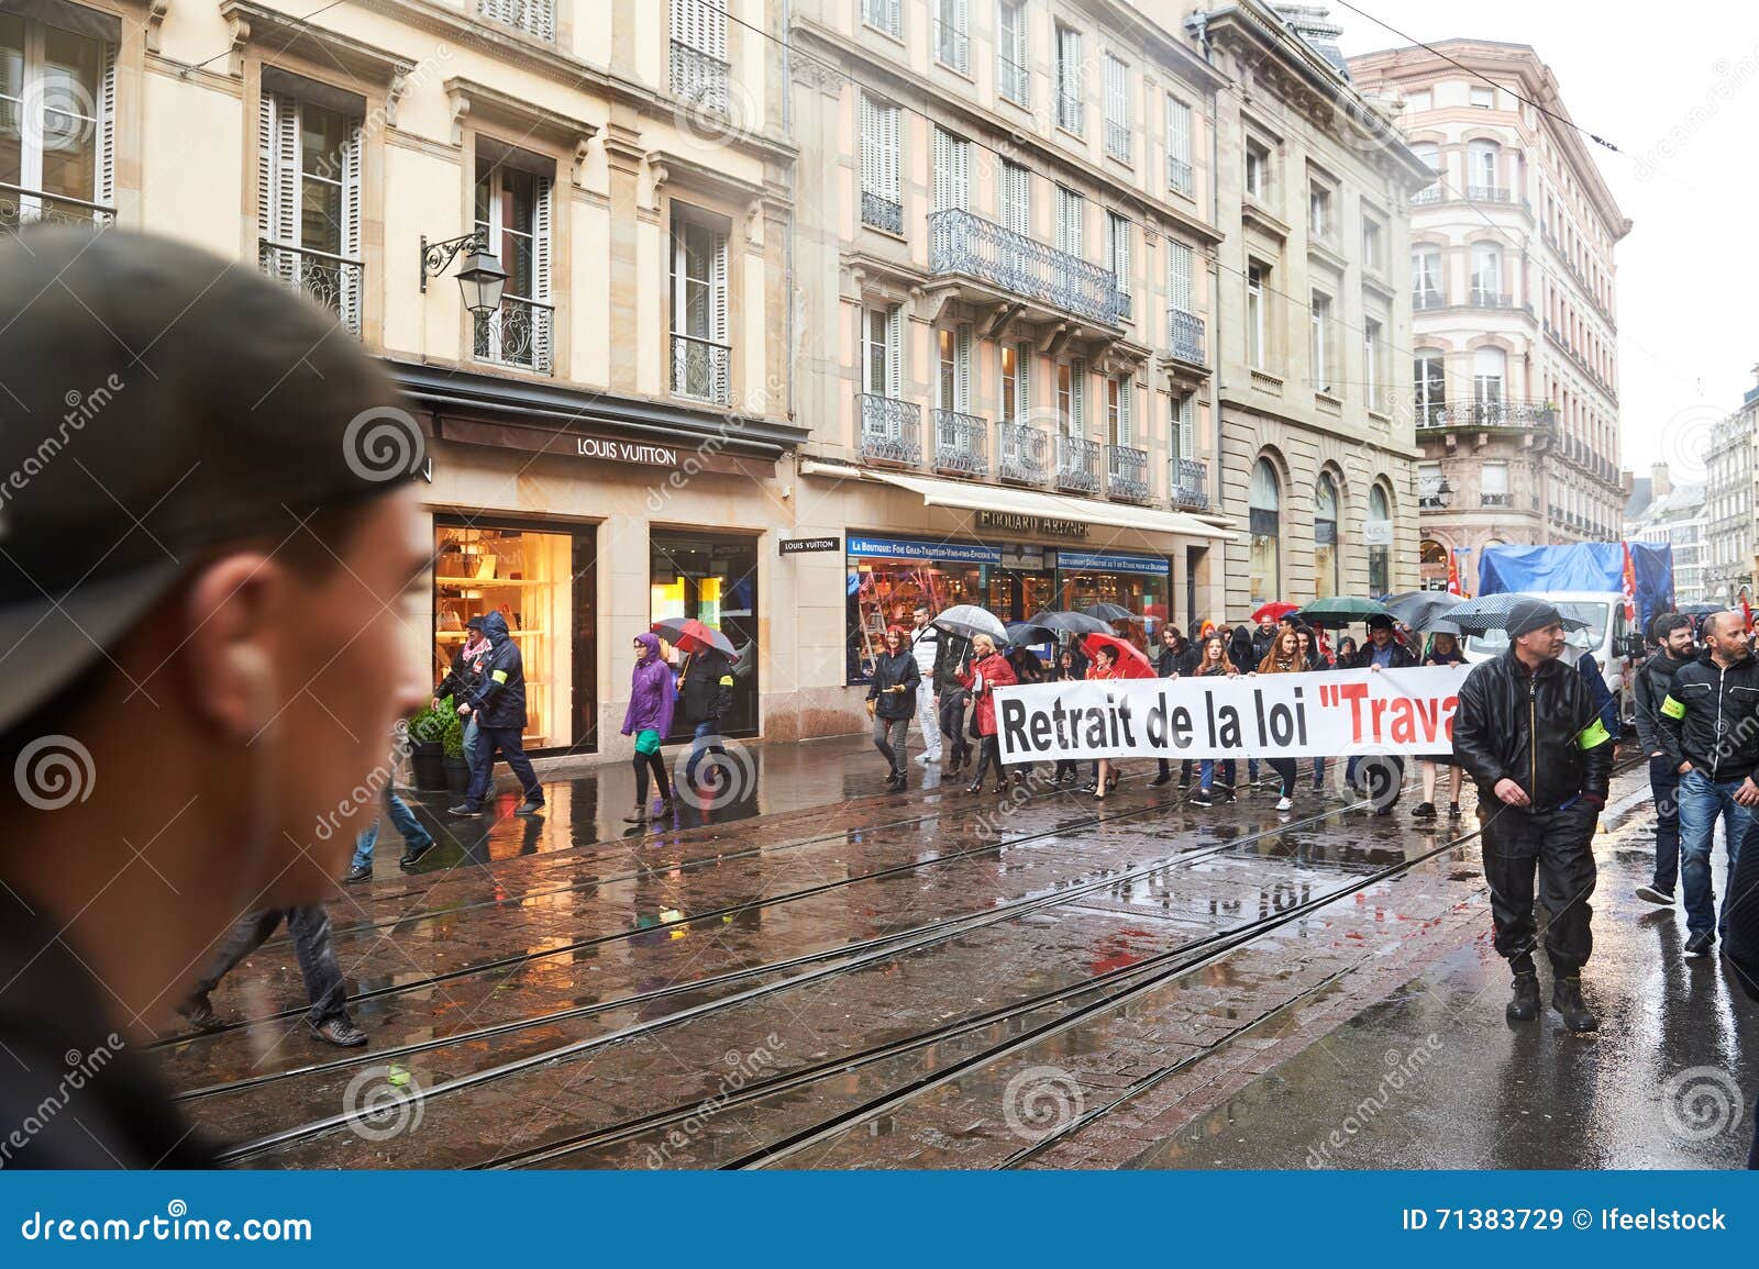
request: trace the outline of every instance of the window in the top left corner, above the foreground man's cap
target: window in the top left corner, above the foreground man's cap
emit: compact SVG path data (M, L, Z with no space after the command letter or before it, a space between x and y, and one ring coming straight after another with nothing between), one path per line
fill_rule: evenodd
M116 46L0 12L0 228L114 220Z

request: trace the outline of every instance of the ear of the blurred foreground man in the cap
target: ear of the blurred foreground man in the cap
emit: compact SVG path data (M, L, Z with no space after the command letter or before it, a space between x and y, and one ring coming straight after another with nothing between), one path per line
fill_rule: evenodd
M183 617L176 657L190 700L223 735L250 742L285 705L274 649L290 620L287 573L259 552L223 555L190 582Z

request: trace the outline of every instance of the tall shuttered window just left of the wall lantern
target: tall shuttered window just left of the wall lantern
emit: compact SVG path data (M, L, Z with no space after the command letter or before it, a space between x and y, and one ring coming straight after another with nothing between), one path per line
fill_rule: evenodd
M359 118L278 91L262 93L257 264L361 334L366 265L361 262Z

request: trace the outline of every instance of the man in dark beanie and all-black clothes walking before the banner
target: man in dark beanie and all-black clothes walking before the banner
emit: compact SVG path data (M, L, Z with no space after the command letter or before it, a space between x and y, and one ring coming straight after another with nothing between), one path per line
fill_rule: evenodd
M1509 650L1460 687L1453 752L1478 784L1495 947L1514 970L1509 1021L1539 1016L1534 874L1548 916L1551 1007L1573 1032L1601 1023L1581 998L1594 949L1594 830L1606 807L1613 736L1581 675L1558 663L1564 615L1537 599L1509 610Z

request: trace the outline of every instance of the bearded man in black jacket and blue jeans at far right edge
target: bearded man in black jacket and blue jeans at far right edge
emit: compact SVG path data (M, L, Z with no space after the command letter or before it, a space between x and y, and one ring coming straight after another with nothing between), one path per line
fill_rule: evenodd
M1662 752L1680 775L1680 882L1685 889L1685 954L1708 956L1719 923L1710 849L1722 821L1729 872L1759 807L1759 661L1747 619L1704 619L1704 652L1673 673L1655 714Z

